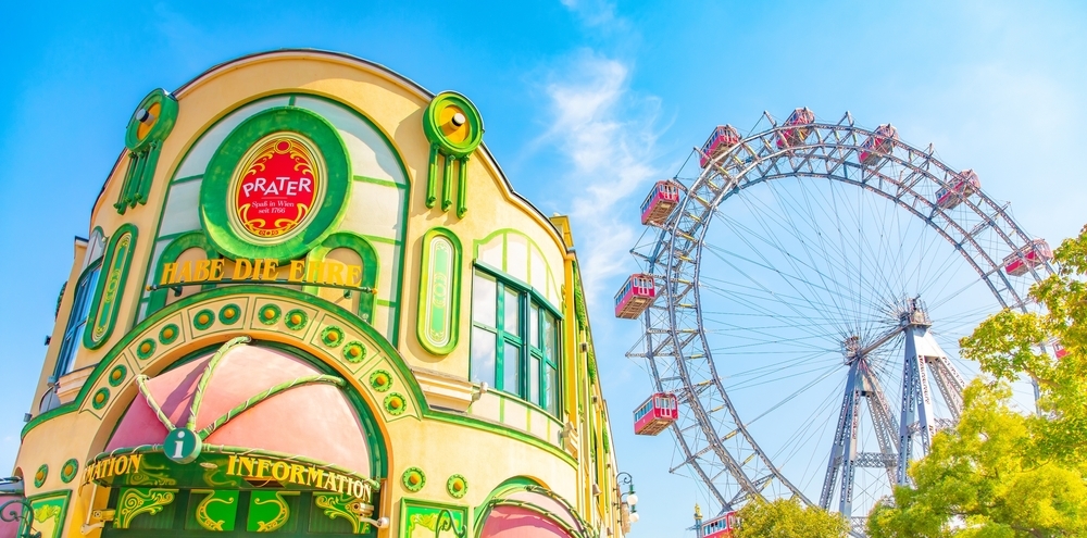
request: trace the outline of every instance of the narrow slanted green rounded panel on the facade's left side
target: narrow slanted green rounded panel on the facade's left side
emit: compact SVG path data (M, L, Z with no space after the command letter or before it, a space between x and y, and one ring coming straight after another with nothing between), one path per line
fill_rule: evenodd
M123 224L113 234L102 263L102 275L95 288L95 298L87 317L87 328L83 331L83 345L87 349L98 349L109 340L117 322L121 296L128 280L133 253L136 250L136 226Z

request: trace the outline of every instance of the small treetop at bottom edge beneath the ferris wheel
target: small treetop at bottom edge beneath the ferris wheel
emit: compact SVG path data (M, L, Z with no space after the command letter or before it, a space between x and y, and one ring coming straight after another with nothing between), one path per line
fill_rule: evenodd
M846 538L849 523L819 506L803 506L796 499L753 501L737 513L740 526L734 538Z

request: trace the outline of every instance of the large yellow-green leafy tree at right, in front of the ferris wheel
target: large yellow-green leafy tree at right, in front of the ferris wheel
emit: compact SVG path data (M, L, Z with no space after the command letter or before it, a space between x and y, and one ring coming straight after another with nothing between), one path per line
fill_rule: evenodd
M873 510L872 538L1087 537L1087 227L1054 258L1058 274L1030 290L1044 313L1005 310L960 342L987 375L911 465L915 487ZM1051 339L1067 353L1041 351ZM1039 386L1037 414L1010 408L1021 374Z

